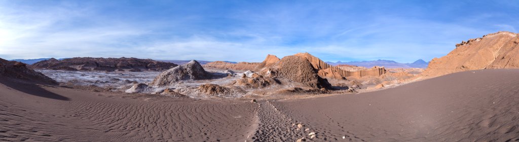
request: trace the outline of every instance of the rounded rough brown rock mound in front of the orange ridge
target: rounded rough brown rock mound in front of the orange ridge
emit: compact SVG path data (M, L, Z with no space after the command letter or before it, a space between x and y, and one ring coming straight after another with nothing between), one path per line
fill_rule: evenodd
M285 56L265 74L303 83L313 88L331 88L330 83L318 75L312 63L303 57Z

